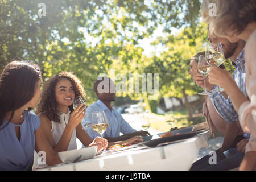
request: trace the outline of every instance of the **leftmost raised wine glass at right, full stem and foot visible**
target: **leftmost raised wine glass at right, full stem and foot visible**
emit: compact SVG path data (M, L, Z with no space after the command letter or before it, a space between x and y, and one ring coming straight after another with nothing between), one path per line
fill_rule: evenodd
M199 73L204 75L204 92L199 93L199 95L203 95L203 96L210 95L205 90L205 78L209 75L209 72L210 72L210 65L209 63L207 63L205 59L205 55L199 56L197 69Z

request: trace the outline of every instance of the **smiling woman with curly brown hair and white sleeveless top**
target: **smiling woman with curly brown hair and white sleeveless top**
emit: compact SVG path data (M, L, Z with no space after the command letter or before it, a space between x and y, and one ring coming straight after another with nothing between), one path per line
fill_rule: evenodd
M98 146L97 152L106 149L108 142L100 137L92 140L82 129L85 106L73 110L73 100L85 92L81 81L71 72L61 72L44 83L42 97L36 110L41 120L43 133L53 150L57 152L77 149L76 138L86 147ZM46 167L38 164L35 155L33 169Z

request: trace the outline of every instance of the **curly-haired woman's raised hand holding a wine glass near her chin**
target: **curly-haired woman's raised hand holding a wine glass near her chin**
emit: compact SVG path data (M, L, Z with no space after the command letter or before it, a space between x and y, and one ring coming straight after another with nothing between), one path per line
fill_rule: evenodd
M69 127L72 127L72 129L75 129L75 127L82 121L82 118L85 117L85 111L86 106L80 105L78 106L70 115L68 119L68 125Z

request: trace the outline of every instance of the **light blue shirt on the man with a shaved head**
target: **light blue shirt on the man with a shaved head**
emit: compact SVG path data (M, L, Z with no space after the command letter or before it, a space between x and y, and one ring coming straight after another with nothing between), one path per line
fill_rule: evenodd
M97 102L87 107L85 116L86 123L92 123L91 119L94 111L104 111L106 118L108 119L109 126L104 132L103 137L119 137L120 132L122 134L127 134L136 131L129 125L129 123L125 121L125 119L123 119L122 115L117 110L108 109L108 107L101 100L97 100ZM86 132L92 139L100 136L100 134L94 131L92 127L89 127Z

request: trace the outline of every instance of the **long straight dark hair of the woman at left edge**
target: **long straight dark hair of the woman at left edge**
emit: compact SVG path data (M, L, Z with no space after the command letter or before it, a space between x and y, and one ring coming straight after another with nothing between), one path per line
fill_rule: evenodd
M35 64L12 61L6 65L0 76L0 130L10 123L15 110L31 101L40 78L40 69ZM2 127L9 112L11 112L9 122Z

